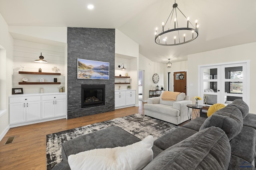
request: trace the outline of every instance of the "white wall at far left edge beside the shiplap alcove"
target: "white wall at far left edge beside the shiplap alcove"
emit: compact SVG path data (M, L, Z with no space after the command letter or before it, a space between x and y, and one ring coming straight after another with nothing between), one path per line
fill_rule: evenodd
M13 38L8 32L8 25L0 14L0 102L3 112L0 114L0 140L9 129L9 104L8 96L12 94L12 66L13 66ZM3 77L2 77L3 76ZM3 90L4 89L4 90Z

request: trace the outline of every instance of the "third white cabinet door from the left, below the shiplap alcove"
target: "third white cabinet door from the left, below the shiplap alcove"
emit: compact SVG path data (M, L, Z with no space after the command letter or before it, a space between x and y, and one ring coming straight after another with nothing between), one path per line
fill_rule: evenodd
M42 118L50 118L55 115L55 101L46 100L42 101Z

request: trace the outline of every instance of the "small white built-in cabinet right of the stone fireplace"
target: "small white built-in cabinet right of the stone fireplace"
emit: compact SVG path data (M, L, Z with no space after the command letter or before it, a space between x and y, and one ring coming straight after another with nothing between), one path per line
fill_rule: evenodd
M115 108L134 106L136 102L135 90L116 90Z

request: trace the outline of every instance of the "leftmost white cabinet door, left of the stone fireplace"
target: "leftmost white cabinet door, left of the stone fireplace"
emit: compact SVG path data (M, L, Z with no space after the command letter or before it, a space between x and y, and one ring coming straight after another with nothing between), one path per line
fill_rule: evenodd
M26 121L26 103L10 104L10 124Z

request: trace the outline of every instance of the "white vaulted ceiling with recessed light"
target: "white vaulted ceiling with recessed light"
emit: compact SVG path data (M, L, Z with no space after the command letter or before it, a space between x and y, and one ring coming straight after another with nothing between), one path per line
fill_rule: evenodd
M151 61L172 63L187 55L256 42L255 0L176 0L199 35L190 42L161 46L154 42L156 27L166 21L174 0L0 0L8 25L116 28L139 44ZM88 10L87 5L94 9Z

